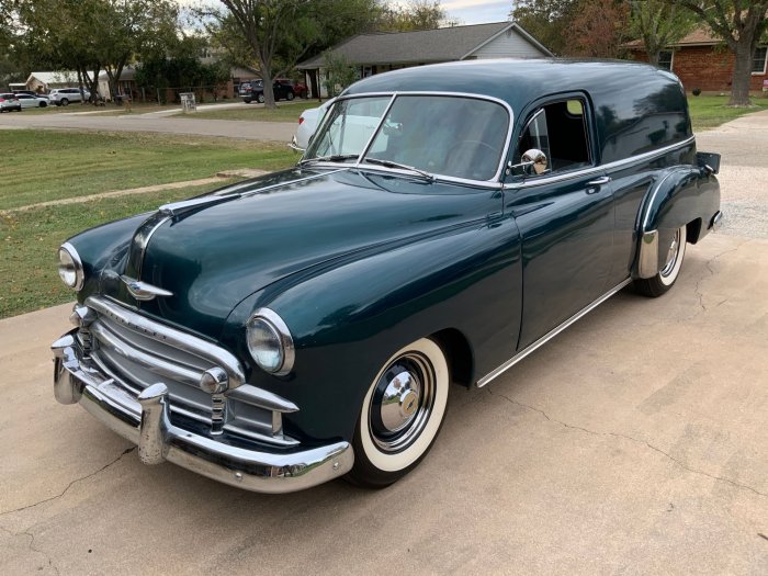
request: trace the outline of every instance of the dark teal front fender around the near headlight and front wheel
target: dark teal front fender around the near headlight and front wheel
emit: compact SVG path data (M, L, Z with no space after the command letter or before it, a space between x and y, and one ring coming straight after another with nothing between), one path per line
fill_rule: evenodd
M281 380L255 369L252 383L300 407L286 415L290 433L349 440L375 374L409 342L447 328L459 330L476 351L477 370L513 353L519 267L515 222L476 222L318 270L276 294L249 298L230 320L245 321L259 306L283 318L296 348L294 370Z

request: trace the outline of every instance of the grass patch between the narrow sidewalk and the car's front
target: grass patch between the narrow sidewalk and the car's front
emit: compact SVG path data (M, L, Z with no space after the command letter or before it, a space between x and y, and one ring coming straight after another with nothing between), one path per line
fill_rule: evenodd
M56 249L70 236L226 183L0 214L0 318L75 300L56 270Z

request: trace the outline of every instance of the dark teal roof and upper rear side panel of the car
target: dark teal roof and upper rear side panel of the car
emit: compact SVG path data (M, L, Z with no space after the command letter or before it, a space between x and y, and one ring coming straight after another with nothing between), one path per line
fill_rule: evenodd
M584 94L591 104L603 162L630 155L626 136L658 134L646 149L692 136L688 102L678 78L648 64L626 60L487 59L416 66L371 76L341 95L375 92L470 93L509 104L517 131L541 99ZM639 154L641 150L632 150Z

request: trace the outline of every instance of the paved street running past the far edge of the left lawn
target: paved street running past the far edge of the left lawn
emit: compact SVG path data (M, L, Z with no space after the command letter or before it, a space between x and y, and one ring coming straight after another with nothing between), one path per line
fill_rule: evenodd
M219 108L233 108L223 105ZM0 128L66 128L105 132L158 132L197 136L224 136L245 140L290 142L293 122L248 122L167 116L167 113L104 116L100 114L1 114Z

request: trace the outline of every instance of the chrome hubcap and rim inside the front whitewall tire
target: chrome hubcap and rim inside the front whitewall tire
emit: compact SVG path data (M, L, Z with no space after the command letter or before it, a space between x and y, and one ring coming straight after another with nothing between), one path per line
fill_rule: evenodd
M410 445L429 420L434 398L434 376L427 359L405 354L382 374L373 391L369 413L371 437L384 452Z

